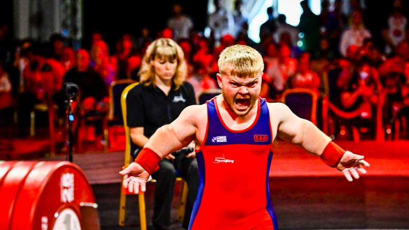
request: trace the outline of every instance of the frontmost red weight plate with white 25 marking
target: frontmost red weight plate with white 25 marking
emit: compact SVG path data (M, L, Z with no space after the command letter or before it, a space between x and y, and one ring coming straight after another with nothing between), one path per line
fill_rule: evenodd
M15 204L13 229L53 229L59 210L69 205L80 216L80 203L95 203L82 170L70 162L41 162L29 175Z

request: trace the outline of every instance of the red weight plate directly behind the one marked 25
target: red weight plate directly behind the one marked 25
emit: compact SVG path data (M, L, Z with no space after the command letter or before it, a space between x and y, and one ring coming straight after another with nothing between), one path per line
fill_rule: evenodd
M15 203L27 178L27 175L38 162L17 162L4 176L3 185L0 187L0 226L2 229L11 229L11 218L14 214ZM11 165L11 164L10 164ZM6 171L6 169L4 170Z

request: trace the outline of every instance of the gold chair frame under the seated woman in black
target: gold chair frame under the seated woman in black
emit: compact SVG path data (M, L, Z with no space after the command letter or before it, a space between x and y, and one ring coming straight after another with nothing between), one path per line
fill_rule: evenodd
M121 96L122 117L123 117L123 122L124 122L124 127L125 127L125 136L126 136L125 163L124 163L123 168L128 167L128 165L131 163L131 160L132 160L131 159L131 137L130 137L129 127L126 121L126 96L128 95L129 90L131 90L133 87L137 86L138 84L139 82L128 85L122 91L122 96ZM155 181L156 180L154 179L150 180L150 182L155 182ZM177 177L176 181L183 182L181 197L179 199L179 205L178 205L178 209L176 212L176 220L183 221L185 206L186 206L186 198L188 195L188 186L187 186L186 181L184 181L181 177ZM119 225L120 226L125 225L126 195L128 194L130 193L128 193L127 190L123 188L123 185L121 183L121 197L119 200ZM139 218L140 218L140 223L141 223L141 230L146 230L147 225L146 225L145 194L143 192L140 192L138 194L138 205L139 205Z

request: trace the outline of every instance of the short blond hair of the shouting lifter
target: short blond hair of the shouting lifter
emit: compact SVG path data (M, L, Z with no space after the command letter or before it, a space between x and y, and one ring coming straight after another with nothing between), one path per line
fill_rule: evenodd
M247 45L232 45L224 49L217 62L220 74L237 77L253 77L263 72L264 62L260 53Z

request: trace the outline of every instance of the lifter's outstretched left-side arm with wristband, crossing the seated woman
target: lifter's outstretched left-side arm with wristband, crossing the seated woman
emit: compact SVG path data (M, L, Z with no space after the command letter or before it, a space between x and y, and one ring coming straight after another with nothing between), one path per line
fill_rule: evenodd
M179 150L194 140L197 130L195 114L197 105L185 108L180 116L169 125L157 129L150 137L137 158L127 168L119 172L124 175L123 185L129 192L146 190L146 181L157 168L159 161L175 150Z

